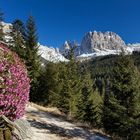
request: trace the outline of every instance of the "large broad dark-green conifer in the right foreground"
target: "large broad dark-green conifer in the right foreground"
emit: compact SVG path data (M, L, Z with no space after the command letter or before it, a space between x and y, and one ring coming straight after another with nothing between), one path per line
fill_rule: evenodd
M137 117L140 114L139 76L133 60L129 56L119 56L110 79L110 90L104 99L105 129L130 140L135 139L140 119Z

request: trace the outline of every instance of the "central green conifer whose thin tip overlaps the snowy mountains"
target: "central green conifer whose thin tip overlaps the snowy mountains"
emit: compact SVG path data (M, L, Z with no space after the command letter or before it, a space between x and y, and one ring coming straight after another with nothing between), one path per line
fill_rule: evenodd
M60 80L63 88L60 91L60 109L74 117L77 110L77 100L81 94L81 79L78 71L78 63L74 58L74 50L70 50L68 63L64 63L60 68Z

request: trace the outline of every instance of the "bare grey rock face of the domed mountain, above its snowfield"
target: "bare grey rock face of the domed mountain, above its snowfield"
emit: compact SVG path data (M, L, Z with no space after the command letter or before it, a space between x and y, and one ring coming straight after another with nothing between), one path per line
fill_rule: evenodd
M113 32L88 32L81 42L81 53L94 53L96 50L119 50L126 46L119 35Z

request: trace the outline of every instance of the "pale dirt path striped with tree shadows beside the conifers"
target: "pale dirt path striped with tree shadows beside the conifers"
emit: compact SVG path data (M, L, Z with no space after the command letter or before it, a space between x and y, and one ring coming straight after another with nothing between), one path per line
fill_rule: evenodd
M107 140L34 105L29 105L26 112L32 131L32 137L27 140Z

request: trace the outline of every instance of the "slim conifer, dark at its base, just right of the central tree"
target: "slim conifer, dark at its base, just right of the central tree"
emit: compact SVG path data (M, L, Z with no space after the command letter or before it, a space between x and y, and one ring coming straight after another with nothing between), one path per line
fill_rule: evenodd
M76 118L83 122L92 123L93 122L93 104L90 96L93 94L93 81L90 78L90 74L87 72L82 72L82 90L81 95L77 103Z

